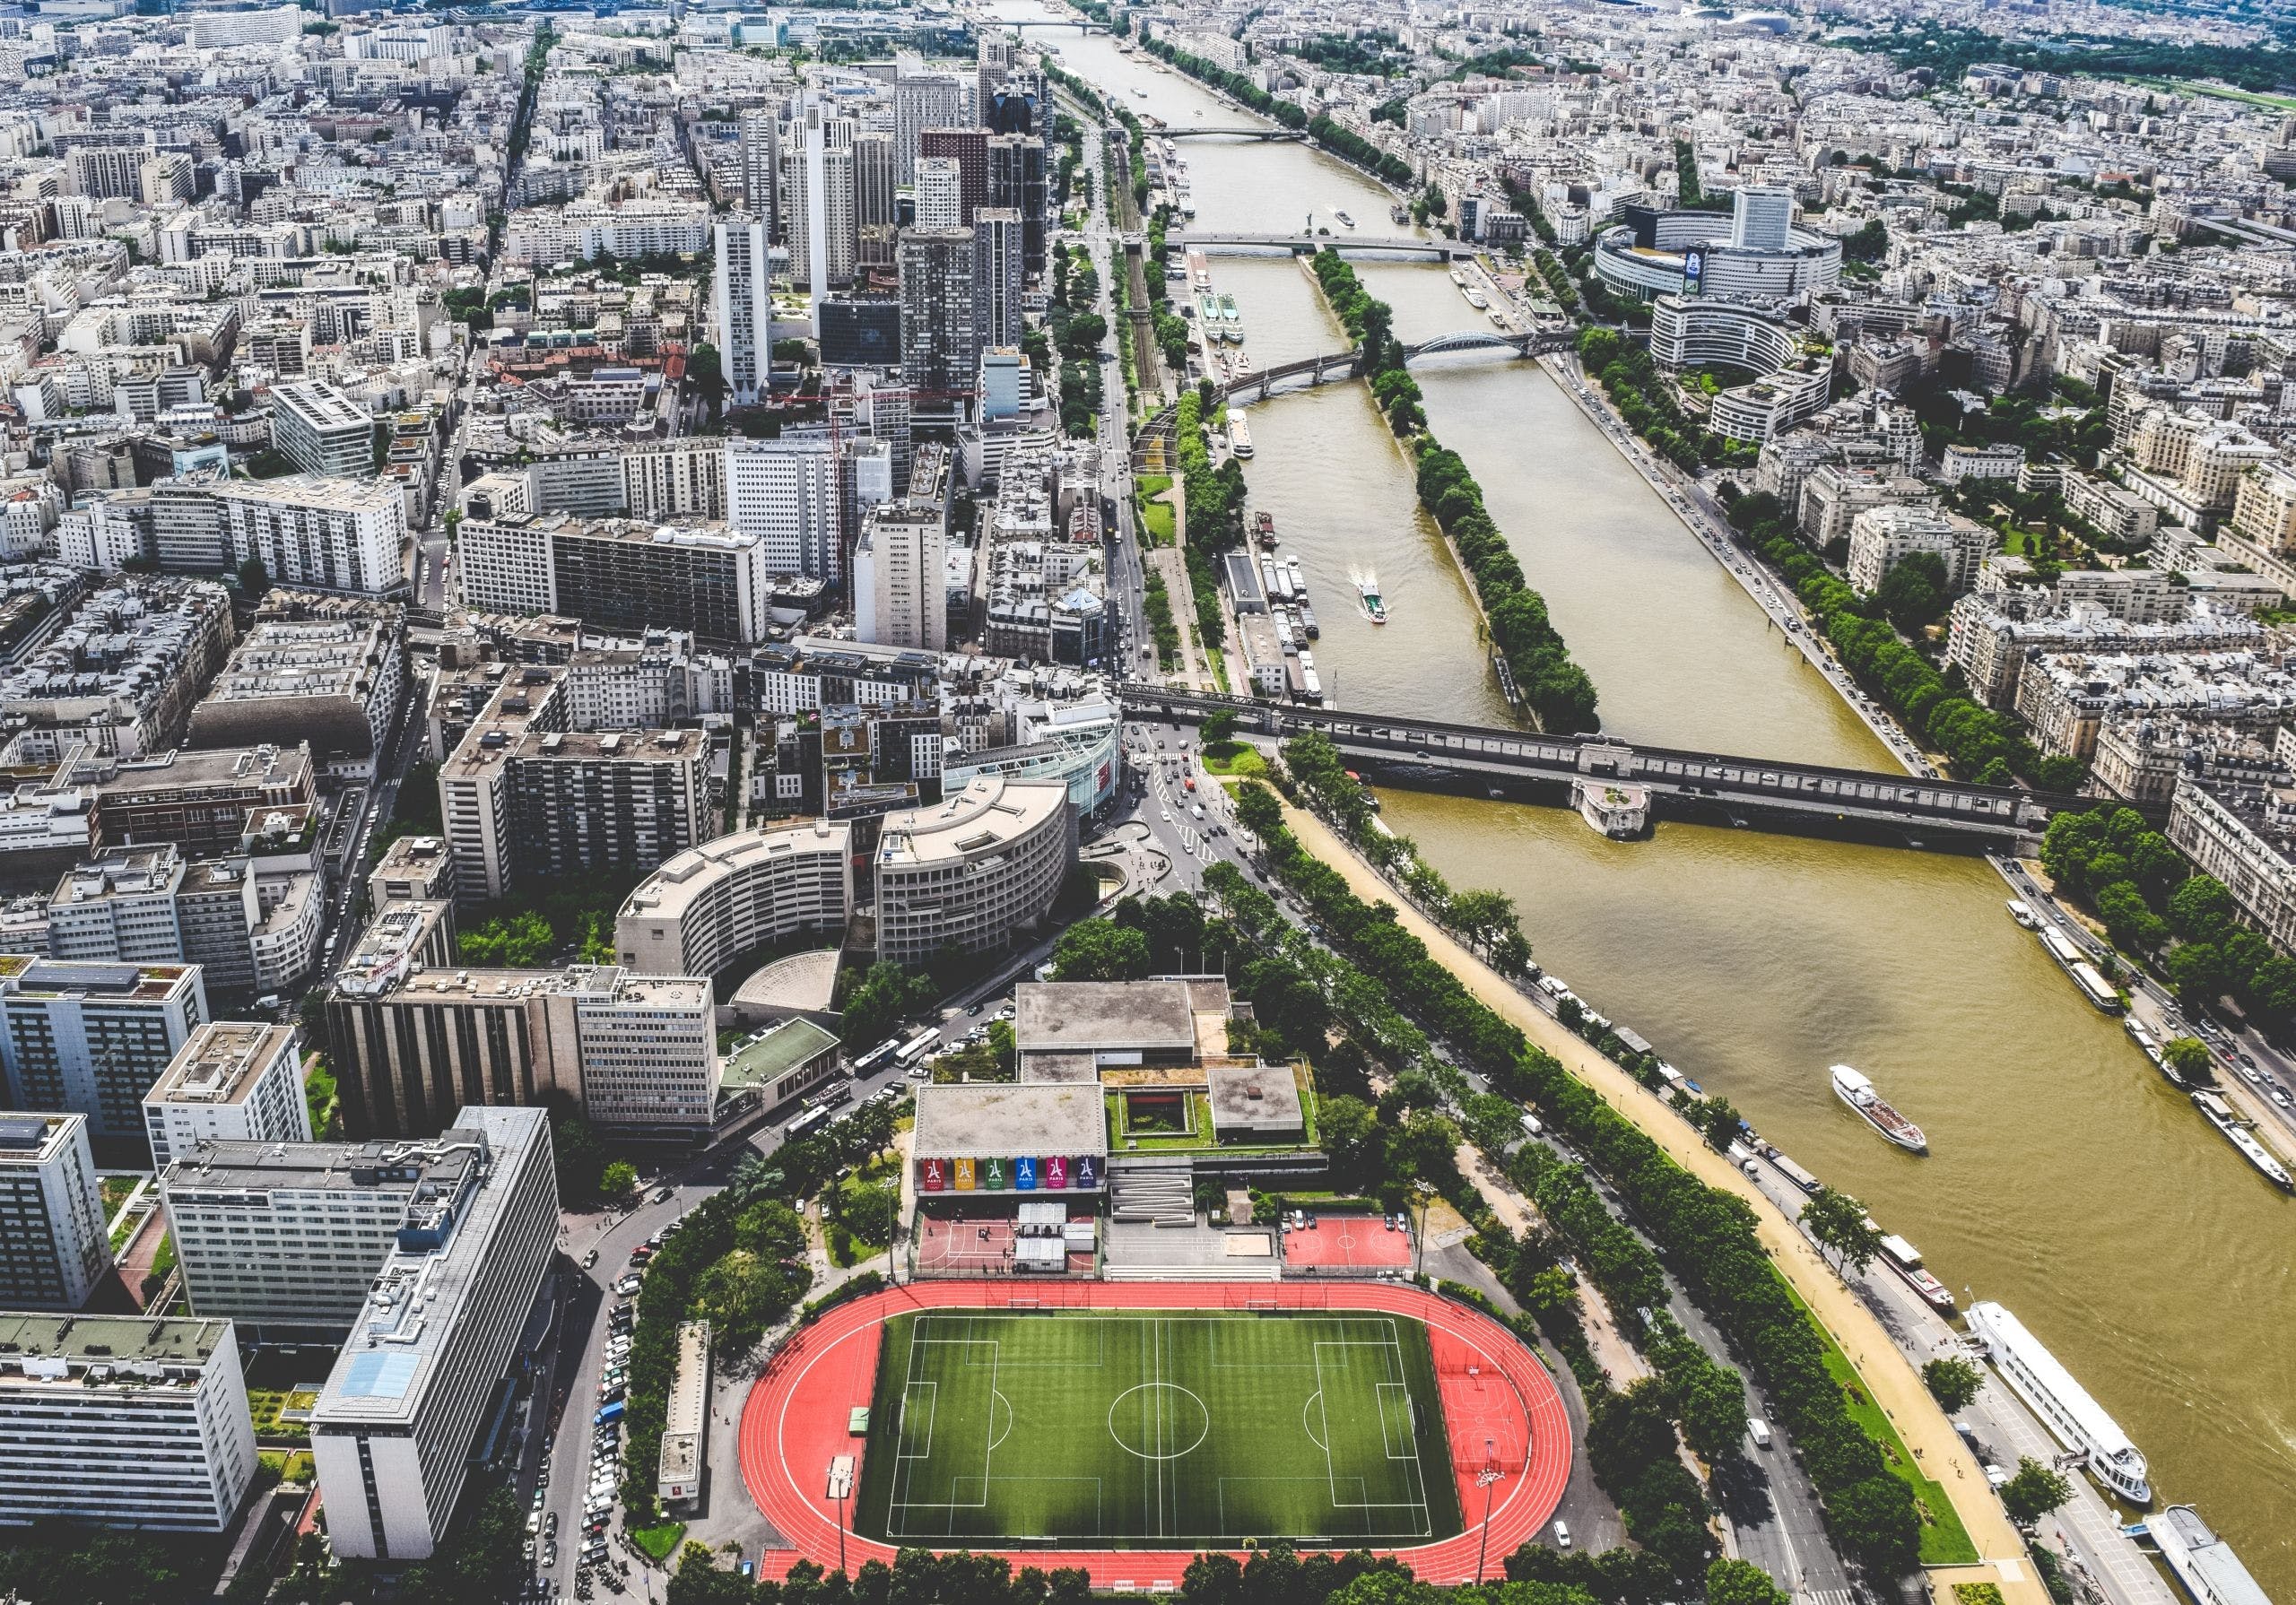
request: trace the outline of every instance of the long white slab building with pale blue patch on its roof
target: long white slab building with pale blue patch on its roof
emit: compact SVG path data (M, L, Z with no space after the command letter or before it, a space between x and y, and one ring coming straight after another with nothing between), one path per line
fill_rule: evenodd
M549 1114L466 1107L455 1130L480 1139L480 1162L409 1205L312 1410L335 1554L436 1548L556 1249Z

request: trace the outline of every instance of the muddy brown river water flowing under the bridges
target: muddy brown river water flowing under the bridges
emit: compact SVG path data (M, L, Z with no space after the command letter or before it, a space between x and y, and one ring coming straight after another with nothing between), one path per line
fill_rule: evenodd
M1031 14L1013 0L1013 16ZM1107 37L1040 34L1176 126L1240 113ZM1146 90L1137 96L1134 90ZM1196 227L1265 232L1389 197L1297 145L1185 140ZM1433 266L1362 264L1405 340L1481 319ZM1288 262L1215 257L1256 365L1343 335ZM1883 749L1667 505L1534 365L1421 365L1435 434L1476 478L1630 739L1887 769ZM1348 707L1502 721L1474 608L1362 386L1251 413L1254 505L1306 565L1316 661ZM1375 567L1391 622L1352 608ZM1660 824L1596 838L1561 808L1391 790L1387 817L1458 884L1522 909L1538 960L1727 1095L1922 1247L1956 1293L2009 1304L2195 1502L2266 1591L2296 1600L2296 1212L2002 912L1988 866ZM1931 1137L1880 1143L1828 1091L1867 1070ZM2275 1518L2278 1511L2278 1518Z

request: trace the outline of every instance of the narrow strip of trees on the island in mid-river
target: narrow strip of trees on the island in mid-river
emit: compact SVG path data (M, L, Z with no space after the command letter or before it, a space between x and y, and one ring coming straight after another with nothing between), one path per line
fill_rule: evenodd
M1332 312L1355 335L1373 400L1419 457L1419 505L1458 549L1515 689L1545 730L1598 728L1593 680L1570 659L1570 648L1548 618L1545 597L1525 583L1522 565L1483 505L1483 487L1460 455L1426 429L1419 381L1403 372L1403 347L1394 338L1394 308L1366 292L1336 250L1318 250L1311 266Z

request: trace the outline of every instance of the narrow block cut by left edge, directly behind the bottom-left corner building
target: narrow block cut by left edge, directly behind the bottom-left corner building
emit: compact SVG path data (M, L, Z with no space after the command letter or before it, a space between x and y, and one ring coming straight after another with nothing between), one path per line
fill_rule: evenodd
M0 1114L0 1304L73 1311L113 1267L83 1114Z

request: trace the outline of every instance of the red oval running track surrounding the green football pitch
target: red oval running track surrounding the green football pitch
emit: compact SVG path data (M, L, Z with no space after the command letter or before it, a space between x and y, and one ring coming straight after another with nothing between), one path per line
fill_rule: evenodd
M1382 1233L1403 1238L1403 1233ZM1419 1288L1364 1284L1187 1284L1187 1281L939 1281L889 1288L838 1304L790 1339L767 1364L742 1408L742 1481L748 1497L790 1541L767 1550L758 1571L781 1577L799 1559L838 1564L838 1504L829 1499L829 1460L866 1451L847 1430L856 1405L877 1385L877 1327L916 1309L1364 1309L1410 1316L1428 1329L1435 1352L1451 1470L1467 1529L1403 1550L1424 1582L1469 1582L1483 1545L1483 1490L1476 1474L1504 1472L1490 1506L1490 1557L1511 1554L1536 1534L1570 1481L1570 1424L1545 1366L1497 1320ZM859 1472L856 1472L859 1481ZM847 1504L847 1511L852 1506ZM1006 1552L1015 1566L1084 1566L1097 1589L1166 1589L1187 1568L1189 1550L1049 1550ZM891 1564L893 1548L845 1534L845 1564ZM1242 1559L1242 1552L1238 1552Z

